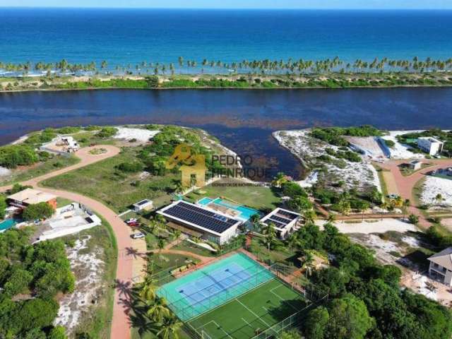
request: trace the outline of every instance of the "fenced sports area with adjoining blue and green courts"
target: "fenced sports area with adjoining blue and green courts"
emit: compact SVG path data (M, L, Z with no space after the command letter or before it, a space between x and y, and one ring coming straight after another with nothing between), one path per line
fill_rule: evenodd
M252 338L277 324L278 331L307 306L299 292L242 253L167 283L157 295L201 338Z

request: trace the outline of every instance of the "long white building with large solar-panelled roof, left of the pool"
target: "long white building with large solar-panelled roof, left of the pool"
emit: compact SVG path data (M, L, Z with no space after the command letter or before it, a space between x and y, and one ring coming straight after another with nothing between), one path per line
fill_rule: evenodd
M242 220L218 210L182 200L174 201L157 213L165 217L169 227L217 244L225 244L235 237L237 227L242 224Z

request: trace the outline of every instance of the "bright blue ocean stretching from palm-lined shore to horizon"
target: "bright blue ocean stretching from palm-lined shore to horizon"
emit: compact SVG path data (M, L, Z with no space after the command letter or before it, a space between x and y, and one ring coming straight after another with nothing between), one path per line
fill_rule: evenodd
M1 8L0 61L452 57L452 11Z

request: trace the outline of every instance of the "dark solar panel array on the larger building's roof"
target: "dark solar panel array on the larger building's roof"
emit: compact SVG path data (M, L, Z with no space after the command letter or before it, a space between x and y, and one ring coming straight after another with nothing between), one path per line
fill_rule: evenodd
M185 203L184 201L167 208L163 213L217 233L225 232L225 230L237 223L237 220Z

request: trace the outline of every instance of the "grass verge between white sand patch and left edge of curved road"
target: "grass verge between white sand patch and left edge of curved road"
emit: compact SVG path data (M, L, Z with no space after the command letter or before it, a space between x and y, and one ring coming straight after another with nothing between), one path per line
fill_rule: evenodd
M88 333L90 338L93 339L109 338L113 315L117 243L111 226L103 219L102 225L64 237L64 240L68 242L69 240L76 240L85 235L90 235L91 239L88 242L88 248L80 252L92 253L96 248L103 249L100 258L105 263L105 270L102 275L102 292L100 292L100 298L97 304L92 305L88 312L83 314L76 328L76 333Z

